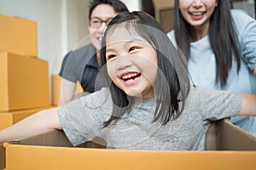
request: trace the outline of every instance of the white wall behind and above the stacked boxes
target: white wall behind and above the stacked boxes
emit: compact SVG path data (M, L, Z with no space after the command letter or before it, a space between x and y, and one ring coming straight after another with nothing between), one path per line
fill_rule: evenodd
M52 61L62 55L62 4L59 0L0 0L0 14L38 22L38 58ZM49 71L53 70L52 62Z

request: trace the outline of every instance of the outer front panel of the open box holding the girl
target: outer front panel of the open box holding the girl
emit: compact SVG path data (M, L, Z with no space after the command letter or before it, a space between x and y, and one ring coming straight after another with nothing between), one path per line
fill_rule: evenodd
M104 150L4 144L8 170L253 170L255 151Z

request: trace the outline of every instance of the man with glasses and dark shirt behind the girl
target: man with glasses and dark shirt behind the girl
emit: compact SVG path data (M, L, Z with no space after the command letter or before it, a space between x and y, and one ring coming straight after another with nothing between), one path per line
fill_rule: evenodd
M98 82L96 77L101 67L102 33L115 15L125 11L128 11L128 8L119 0L93 0L90 2L90 24L87 27L90 33L90 44L70 51L64 57L59 74L62 78L59 105L73 99L77 81L80 82L87 94L102 88L101 84L96 84L96 81Z

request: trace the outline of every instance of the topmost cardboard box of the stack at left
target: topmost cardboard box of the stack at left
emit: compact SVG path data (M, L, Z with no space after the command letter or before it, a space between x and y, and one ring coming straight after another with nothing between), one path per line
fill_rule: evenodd
M38 56L37 22L0 14L0 51Z

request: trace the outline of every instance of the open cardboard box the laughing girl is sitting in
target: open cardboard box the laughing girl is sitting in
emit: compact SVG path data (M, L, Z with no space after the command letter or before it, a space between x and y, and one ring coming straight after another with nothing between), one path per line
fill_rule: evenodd
M3 144L0 163L8 170L256 168L252 135L222 120L212 122L206 138L207 151L104 150L94 148L103 147L92 142L74 148L62 131L50 130Z

